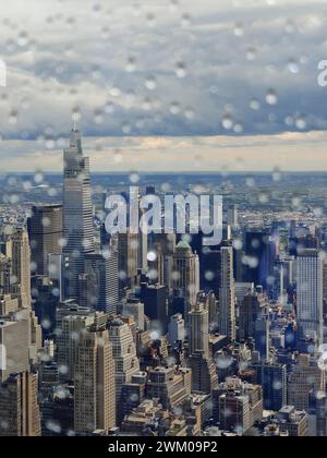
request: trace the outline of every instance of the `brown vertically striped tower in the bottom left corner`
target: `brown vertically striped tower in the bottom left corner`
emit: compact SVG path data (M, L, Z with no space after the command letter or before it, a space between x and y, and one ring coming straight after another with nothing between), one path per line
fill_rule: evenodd
M0 436L40 436L37 374L11 374L0 385Z

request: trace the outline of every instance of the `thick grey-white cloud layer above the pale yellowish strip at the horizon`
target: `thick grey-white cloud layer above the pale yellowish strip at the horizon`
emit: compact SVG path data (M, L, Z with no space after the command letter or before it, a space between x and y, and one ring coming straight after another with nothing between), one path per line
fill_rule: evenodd
M252 142L327 128L325 0L12 0L5 16L4 138L61 138L75 107L86 136L233 136L225 113Z

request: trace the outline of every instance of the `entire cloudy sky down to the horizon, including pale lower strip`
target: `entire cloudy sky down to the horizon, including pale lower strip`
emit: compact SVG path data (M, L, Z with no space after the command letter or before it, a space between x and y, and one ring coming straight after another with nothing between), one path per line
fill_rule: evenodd
M325 0L11 0L0 21L1 171L59 171L72 116L93 170L327 170Z

